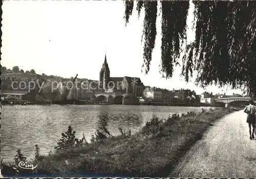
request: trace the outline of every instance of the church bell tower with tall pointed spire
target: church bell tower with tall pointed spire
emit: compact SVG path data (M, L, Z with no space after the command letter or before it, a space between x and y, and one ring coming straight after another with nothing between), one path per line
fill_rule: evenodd
M100 88L106 89L108 87L109 81L110 81L110 69L109 69L109 64L106 62L106 54L105 54L105 59L99 73Z

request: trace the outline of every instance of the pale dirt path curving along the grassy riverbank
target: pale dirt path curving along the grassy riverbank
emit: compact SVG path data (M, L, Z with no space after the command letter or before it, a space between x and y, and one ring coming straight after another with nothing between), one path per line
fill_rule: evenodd
M256 140L242 110L225 116L184 156L169 177L256 177Z

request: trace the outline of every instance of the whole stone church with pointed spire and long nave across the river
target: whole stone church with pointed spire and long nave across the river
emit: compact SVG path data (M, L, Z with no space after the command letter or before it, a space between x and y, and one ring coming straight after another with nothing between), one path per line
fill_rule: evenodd
M99 73L99 91L103 93L132 94L136 97L143 96L144 85L137 77L110 77L109 64L105 59Z

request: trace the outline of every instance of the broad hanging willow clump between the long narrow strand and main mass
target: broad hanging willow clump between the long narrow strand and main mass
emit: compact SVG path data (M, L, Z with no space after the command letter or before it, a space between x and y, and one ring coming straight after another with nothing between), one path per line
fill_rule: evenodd
M162 70L165 78L173 76L174 64L179 64L181 49L186 40L186 19L189 2L161 2L162 9ZM164 77L164 75L163 75Z

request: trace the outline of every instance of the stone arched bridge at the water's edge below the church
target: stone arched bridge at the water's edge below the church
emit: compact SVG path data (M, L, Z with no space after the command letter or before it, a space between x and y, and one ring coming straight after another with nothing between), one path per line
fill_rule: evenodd
M123 98L131 98L132 94L123 93L96 93L94 94L97 101L110 102L114 104L123 104Z

